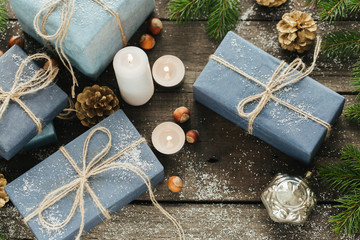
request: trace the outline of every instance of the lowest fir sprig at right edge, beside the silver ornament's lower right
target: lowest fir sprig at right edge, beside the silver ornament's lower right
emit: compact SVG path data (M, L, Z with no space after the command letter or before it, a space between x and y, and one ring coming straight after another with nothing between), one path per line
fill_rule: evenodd
M335 223L333 231L337 235L343 233L352 235L360 231L360 194L353 192L344 195L336 200L340 205L335 207L344 208L345 210L329 219L330 223Z

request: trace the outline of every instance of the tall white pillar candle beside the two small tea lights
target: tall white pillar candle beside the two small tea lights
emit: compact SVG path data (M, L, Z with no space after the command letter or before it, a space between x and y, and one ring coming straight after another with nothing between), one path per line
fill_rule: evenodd
M138 47L125 47L116 53L113 61L122 99L130 105L140 106L154 94L149 59Z

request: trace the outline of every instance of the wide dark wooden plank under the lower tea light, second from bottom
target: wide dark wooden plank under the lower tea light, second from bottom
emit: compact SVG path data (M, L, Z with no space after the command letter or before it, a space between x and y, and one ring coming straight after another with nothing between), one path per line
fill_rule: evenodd
M354 102L354 96L346 97L347 104ZM191 94L178 93L175 97L174 93L159 93L140 108L122 104L122 109L152 146L152 130L163 121L172 121L173 110L181 105L188 106L192 112L191 121L182 125L183 129L198 129L200 142L185 144L179 153L170 156L153 148L165 167L165 181L156 187L159 200L260 201L261 191L276 173L303 175L321 163L337 161L338 152L346 144L360 146L360 126L341 116L314 164L303 166L194 102ZM86 130L77 120L56 120L55 126L59 136L57 145L20 153L11 161L2 160L0 172L11 181L56 151L59 145L70 142ZM166 180L172 175L179 175L185 182L179 194L171 193L167 188ZM336 197L317 180L314 190L321 201ZM143 195L140 199L147 200L148 196Z

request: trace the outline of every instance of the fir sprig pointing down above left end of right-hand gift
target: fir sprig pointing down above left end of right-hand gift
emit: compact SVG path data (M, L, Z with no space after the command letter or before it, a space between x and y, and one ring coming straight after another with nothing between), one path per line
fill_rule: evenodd
M240 17L239 0L213 0L211 5L206 32L210 38L216 41L235 28Z

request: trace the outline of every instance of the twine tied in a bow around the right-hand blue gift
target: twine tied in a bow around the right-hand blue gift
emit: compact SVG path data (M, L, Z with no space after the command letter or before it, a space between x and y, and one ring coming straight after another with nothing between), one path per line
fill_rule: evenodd
M312 121L324 126L327 129L326 137L329 137L330 131L331 131L331 125L320 118L317 118L313 115L311 115L308 112L305 112L290 103L287 103L273 95L273 93L283 89L284 87L299 82L302 79L304 79L306 76L308 76L315 68L315 63L317 60L317 57L319 56L321 48L321 39L317 39L317 43L314 50L314 57L312 64L309 68L306 69L305 63L300 59L296 58L293 62L291 62L286 67L286 62L282 61L281 64L278 66L278 68L275 70L274 74L270 78L269 82L267 84L264 84L257 80L256 78L252 77L251 75L247 74L246 72L242 71L238 67L232 65L231 63L227 62L226 60L222 59L221 57L211 55L210 59L215 60L216 62L224 65L225 67L239 73L240 75L243 75L247 79L259 84L260 86L263 86L265 88L265 91L259 94L255 94L249 97L244 98L241 100L237 106L237 111L239 116L243 118L248 118L248 132L249 134L253 134L253 124L257 116L261 113L261 111L264 109L264 107L269 103L270 99L274 100L275 102L280 103L281 105L307 117L308 119L311 119ZM258 101L257 106L255 109L249 113L246 113L244 111L244 108L247 104Z

